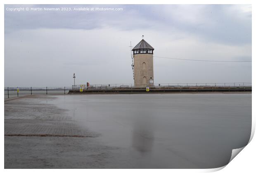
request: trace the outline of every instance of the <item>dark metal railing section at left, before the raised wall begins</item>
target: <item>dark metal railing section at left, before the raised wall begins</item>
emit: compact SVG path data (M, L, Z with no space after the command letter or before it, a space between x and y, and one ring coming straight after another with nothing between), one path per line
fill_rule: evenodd
M68 94L72 87L5 87L5 98L19 97L32 94Z

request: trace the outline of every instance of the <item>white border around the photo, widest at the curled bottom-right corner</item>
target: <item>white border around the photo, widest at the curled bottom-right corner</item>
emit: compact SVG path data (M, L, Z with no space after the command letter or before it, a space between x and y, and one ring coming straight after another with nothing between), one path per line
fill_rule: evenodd
M4 4L252 4L252 9L254 9L254 1L253 0L3 0L2 1L2 11L0 13L1 15L1 33L4 35ZM254 21L254 11L252 12L252 31L255 30L255 21ZM252 33L252 47L255 47L255 37L254 37L254 32ZM4 88L4 39L2 39L1 42L1 58L0 58L0 70L2 74L2 80L1 80L1 88ZM255 55L255 50L252 49L252 57ZM253 58L252 58L253 59ZM252 61L252 84L254 84L254 61ZM0 94L4 96L3 89L0 90ZM252 105L254 105L254 100L255 100L255 94L252 94ZM1 100L1 108L2 108L2 117L4 115L4 99ZM252 107L252 136L255 131L255 108L254 106ZM2 130L4 131L4 121L2 121ZM252 139L251 136L251 139ZM4 138L4 136L3 136ZM250 140L251 140L250 139ZM4 150L4 142L2 141L1 143L2 146L2 151ZM222 169L221 171L223 172L252 172L255 170L255 163L254 163L254 157L255 157L255 146L256 142L255 139L251 140L250 144L244 148L244 150L241 151L238 157L235 157L234 160L230 162L226 166L226 168ZM4 168L4 153L2 153L1 157L1 164L2 168ZM225 166L224 166L225 167ZM222 167L223 168L223 167ZM203 169L187 169L187 170L181 170L181 169L171 169L171 170L166 170L166 169L161 169L157 171L161 172L209 172L209 171L218 171L218 169L221 168L216 168L216 169L211 169L211 170L203 170ZM21 171L21 172L30 172L30 171L35 171L35 170L5 170L7 172L12 172L12 171ZM45 172L45 171L64 171L67 172L69 170L37 170L39 172ZM72 170L72 171L77 171L77 172L82 172L85 170ZM119 172L120 170L86 170L90 172L98 172L98 171L104 171L104 172ZM142 172L152 172L154 170L122 170L122 172L130 172L130 171L142 171Z

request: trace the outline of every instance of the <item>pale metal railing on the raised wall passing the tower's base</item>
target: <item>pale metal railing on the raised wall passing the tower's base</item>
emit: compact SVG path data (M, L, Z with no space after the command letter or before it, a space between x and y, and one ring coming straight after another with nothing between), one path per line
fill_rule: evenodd
M154 87L154 88L163 88L163 87L192 87L192 86L251 86L251 83L248 82L233 82L233 83L169 83L169 84L86 84L72 85L73 90L78 89L114 89L114 88L136 88L136 87Z

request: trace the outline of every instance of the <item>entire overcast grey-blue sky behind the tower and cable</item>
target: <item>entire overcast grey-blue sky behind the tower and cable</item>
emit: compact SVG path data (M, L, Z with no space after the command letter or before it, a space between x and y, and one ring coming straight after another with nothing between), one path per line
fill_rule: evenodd
M113 7L122 11L8 11ZM133 83L130 41L154 56L251 61L251 5L5 5L5 86ZM154 57L154 83L251 82L251 62Z

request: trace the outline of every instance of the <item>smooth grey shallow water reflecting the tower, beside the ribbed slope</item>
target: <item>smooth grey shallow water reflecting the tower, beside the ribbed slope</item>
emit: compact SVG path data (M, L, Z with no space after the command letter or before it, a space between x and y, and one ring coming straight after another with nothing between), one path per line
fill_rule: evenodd
M56 97L48 103L99 133L95 143L116 148L107 168L217 168L251 134L251 94Z

